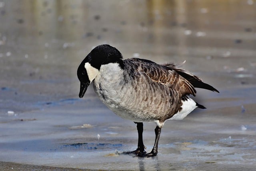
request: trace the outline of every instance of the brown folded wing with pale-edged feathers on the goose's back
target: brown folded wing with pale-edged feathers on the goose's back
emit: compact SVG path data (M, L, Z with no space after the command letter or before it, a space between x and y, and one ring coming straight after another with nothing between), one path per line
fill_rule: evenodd
M129 62L129 66L133 68L132 71L144 72L153 82L164 84L169 89L175 89L181 96L188 94L196 95L193 85L168 66L138 58L131 58L124 61Z

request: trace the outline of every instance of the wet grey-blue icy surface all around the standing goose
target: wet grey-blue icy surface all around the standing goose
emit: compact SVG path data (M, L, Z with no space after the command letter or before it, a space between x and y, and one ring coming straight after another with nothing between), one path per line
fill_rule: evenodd
M0 170L255 170L254 0L0 0ZM156 157L76 70L99 44L174 62L216 87L166 121ZM144 143L154 144L154 123Z

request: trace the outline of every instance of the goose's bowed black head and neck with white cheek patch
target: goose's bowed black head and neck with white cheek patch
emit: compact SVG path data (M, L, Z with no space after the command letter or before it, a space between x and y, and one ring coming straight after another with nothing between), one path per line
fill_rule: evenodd
M97 46L84 58L77 69L77 77L80 81L80 98L84 96L88 85L98 74L100 66L109 63L118 63L121 68L124 67L122 54L108 44Z

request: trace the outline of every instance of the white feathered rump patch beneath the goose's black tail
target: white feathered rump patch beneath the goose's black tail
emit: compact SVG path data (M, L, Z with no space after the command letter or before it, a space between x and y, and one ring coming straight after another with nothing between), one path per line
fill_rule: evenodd
M196 109L196 102L193 99L188 98L188 100L182 101L182 109L181 111L178 111L173 117L170 118L170 120L181 120L184 117L186 117L190 112L192 112L194 109Z

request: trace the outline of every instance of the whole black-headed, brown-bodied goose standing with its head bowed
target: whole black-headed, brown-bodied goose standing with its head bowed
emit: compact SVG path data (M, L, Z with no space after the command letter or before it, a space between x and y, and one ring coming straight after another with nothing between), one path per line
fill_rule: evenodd
M194 109L205 109L189 95L196 88L216 91L202 79L174 64L156 64L150 60L123 60L114 47L96 46L78 67L79 97L90 83L100 100L114 113L137 124L138 148L127 151L138 157L153 157L158 153L158 141L166 120L180 120ZM142 138L143 122L156 123L154 147L146 153Z

